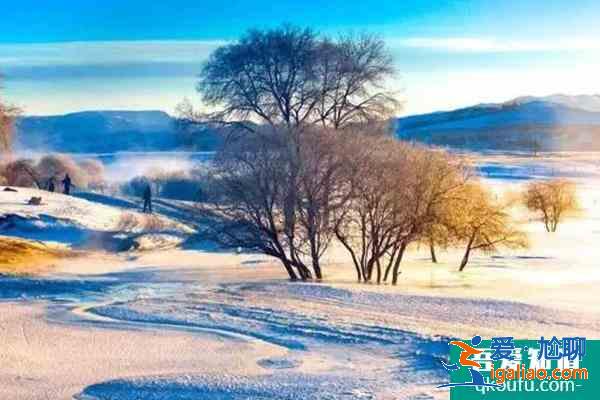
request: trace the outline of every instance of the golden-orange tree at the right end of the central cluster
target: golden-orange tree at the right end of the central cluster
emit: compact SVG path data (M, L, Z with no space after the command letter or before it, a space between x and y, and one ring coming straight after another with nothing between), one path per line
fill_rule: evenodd
M465 185L452 202L453 212L445 223L457 242L466 243L459 271L465 269L475 250L494 253L499 246L527 247L527 236L514 227L508 205L494 200L481 184Z

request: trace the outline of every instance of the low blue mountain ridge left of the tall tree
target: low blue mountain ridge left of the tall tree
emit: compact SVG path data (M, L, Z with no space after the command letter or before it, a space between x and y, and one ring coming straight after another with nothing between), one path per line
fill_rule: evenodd
M191 135L162 111L86 111L17 121L17 150L63 153L214 149L218 137L202 128Z

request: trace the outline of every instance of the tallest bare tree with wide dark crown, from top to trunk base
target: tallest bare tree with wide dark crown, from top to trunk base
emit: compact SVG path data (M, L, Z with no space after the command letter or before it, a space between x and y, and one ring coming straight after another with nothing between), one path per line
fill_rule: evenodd
M232 191L220 203L236 209L235 215L221 210L224 220L245 221L245 231L268 231L268 246L254 239L244 243L250 235L240 238L231 231L217 236L235 235L230 242L279 258L291 278L312 276L304 261L310 259L315 277L321 278L319 260L331 242L330 228L345 215L342 205L349 199L350 186L338 179L343 153L334 149L343 145L341 132L367 125L380 131L387 123L398 107L384 89L393 73L383 42L370 36L330 40L309 29L284 26L252 30L217 49L197 85L209 112L188 110L184 117L228 127L222 154L227 162L218 161L217 169L230 187L244 187L249 175L256 181L274 174L260 168L277 169L271 177L277 187L259 186L264 190L247 192L252 197ZM236 160L240 156L234 152L240 149L242 157L254 159ZM239 174L242 167L245 173ZM266 219L256 218L257 210Z

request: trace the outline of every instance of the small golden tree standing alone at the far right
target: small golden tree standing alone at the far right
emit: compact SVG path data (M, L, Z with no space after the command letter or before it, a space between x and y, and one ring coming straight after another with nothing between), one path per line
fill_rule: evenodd
M528 184L523 203L530 211L541 215L547 232L556 232L565 214L579 208L575 184L564 179Z

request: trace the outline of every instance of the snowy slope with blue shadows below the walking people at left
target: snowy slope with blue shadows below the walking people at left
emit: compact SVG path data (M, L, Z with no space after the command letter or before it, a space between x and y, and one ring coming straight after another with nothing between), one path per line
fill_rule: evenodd
M180 221L142 214L118 199L109 204L31 188L3 189L0 234L5 236L119 251L176 245L193 233ZM27 204L32 197L41 197L42 204Z

